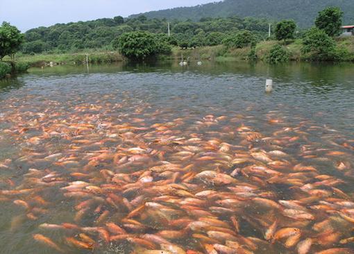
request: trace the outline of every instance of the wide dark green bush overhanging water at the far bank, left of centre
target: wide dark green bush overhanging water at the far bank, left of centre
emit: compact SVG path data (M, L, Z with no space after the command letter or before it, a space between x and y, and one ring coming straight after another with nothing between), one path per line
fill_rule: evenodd
M159 40L152 33L142 31L121 35L117 48L123 56L134 60L171 52L171 47L166 42Z

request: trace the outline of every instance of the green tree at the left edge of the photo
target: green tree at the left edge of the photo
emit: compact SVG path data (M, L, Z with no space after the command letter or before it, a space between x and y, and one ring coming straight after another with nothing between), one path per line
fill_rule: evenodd
M0 60L4 56L10 56L14 60L15 53L19 51L22 42L24 42L24 35L17 27L3 22L0 26Z

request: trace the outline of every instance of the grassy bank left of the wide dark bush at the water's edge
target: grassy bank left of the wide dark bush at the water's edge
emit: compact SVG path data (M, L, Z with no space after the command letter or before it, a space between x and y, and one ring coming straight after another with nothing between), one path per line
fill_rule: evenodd
M81 53L59 53L59 54L36 54L16 56L17 62L26 62L31 66L41 67L50 65L78 65L86 62L86 54L88 61L91 63L101 62L121 62L123 57L115 51L88 51ZM6 58L5 58L6 60Z

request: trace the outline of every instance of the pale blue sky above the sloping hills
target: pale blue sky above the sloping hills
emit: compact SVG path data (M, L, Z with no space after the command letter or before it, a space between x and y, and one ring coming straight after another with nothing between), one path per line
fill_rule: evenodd
M212 0L0 0L0 22L10 22L22 32L51 26L162 10L196 6Z

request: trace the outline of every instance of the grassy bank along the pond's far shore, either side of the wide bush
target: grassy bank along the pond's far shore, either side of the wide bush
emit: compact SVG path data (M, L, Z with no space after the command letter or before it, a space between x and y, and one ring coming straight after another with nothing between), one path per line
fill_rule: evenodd
M255 47L255 53L259 60L267 60L269 51L275 45L283 42L264 41L259 42ZM337 45L348 51L348 60L354 61L354 37L347 37L337 40ZM301 53L301 40L293 40L284 45L289 52L289 59L294 61L306 60L306 56ZM224 45L203 46L196 49L180 49L174 47L170 56L163 56L163 59L180 60L181 56L186 60L212 60L212 61L235 61L246 60L250 47L243 49L227 49ZM121 62L124 57L117 51L83 51L81 53L59 53L59 54L37 54L37 55L17 55L17 62L31 66L50 65L80 65L85 64L86 54L91 63ZM4 60L9 60L4 58Z

